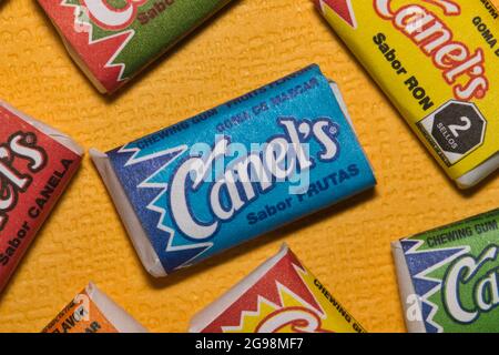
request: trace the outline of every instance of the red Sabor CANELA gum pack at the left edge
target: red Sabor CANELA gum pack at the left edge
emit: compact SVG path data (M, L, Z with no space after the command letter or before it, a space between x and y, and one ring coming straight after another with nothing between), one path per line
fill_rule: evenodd
M67 135L0 101L0 293L82 154Z

